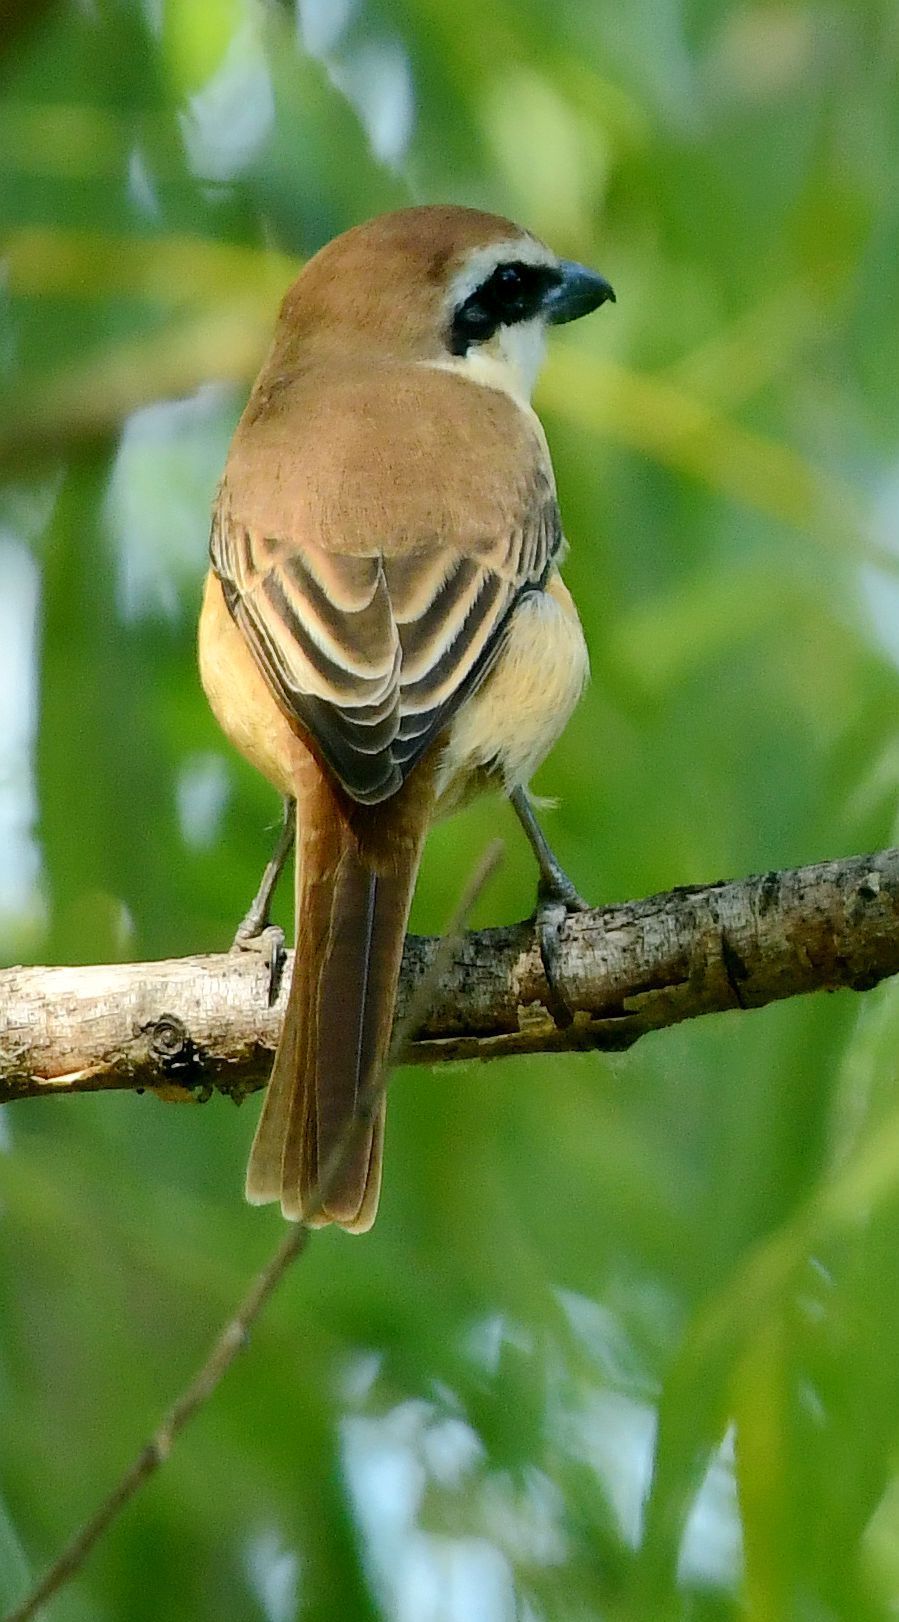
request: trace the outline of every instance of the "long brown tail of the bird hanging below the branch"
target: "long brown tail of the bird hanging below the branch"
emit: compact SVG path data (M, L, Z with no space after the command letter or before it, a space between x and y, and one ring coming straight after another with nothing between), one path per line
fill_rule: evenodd
M417 777L419 774L414 774ZM388 1049L402 941L430 817L430 774L360 806L316 767L299 805L297 952L247 1168L253 1205L365 1233L381 1187L385 1100L334 1176L355 1101ZM320 1181L326 1199L318 1204Z

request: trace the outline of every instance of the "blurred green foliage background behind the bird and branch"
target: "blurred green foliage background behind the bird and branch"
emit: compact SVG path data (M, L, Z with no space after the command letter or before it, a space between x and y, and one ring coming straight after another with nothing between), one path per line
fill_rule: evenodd
M409 201L618 292L537 394L592 684L536 787L578 886L891 842L897 57L893 0L3 8L6 962L229 941L277 808L195 675L209 501L297 263ZM498 822L477 920L529 910L484 805L419 929ZM894 1617L897 1041L886 985L398 1074L375 1231L315 1238L49 1616ZM0 1603L277 1242L256 1108L0 1116Z

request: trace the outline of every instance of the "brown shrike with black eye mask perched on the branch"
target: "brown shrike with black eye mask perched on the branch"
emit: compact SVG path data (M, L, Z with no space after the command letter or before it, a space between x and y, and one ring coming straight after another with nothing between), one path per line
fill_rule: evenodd
M243 944L295 813L294 972L245 1187L290 1221L375 1220L383 1092L347 1129L389 1051L430 822L508 795L542 902L583 905L527 796L589 670L531 394L547 329L613 298L501 216L381 214L289 287L234 433L198 655L289 808Z

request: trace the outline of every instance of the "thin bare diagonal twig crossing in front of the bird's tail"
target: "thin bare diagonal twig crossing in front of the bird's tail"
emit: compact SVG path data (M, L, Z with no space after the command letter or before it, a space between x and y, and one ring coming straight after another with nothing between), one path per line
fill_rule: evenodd
M415 996L412 998L402 1022L394 1032L386 1062L381 1066L370 1085L360 1093L352 1121L347 1124L331 1161L323 1171L318 1192L313 1194L312 1210L308 1213L310 1216L318 1215L323 1205L328 1204L329 1191L339 1179L347 1156L355 1147L359 1131L370 1121L372 1109L388 1087L393 1066L401 1061L417 1025L425 1019L430 998L433 996L440 975L443 973L446 959L453 950L454 942L459 939L471 908L482 894L484 886L497 871L501 850L503 847L498 840L490 845L474 869L472 878L466 884L462 899L450 921L446 934L438 944L433 962L422 976ZM112 1526L112 1523L118 1518L122 1510L131 1502L135 1494L143 1487L144 1481L148 1481L149 1476L153 1476L159 1466L166 1463L175 1444L175 1437L180 1435L183 1427L193 1419L195 1413L198 1413L198 1410L203 1408L214 1395L239 1351L245 1348L250 1328L277 1289L277 1285L284 1278L287 1268L307 1249L310 1238L310 1228L297 1225L289 1229L287 1236L277 1246L271 1262L263 1267L261 1273L247 1291L237 1312L217 1335L209 1356L195 1374L190 1385L172 1405L162 1419L162 1424L154 1431L149 1442L146 1442L135 1461L118 1479L109 1497L104 1499L94 1515L91 1515L91 1518L75 1533L71 1541L54 1560L50 1568L44 1573L31 1593L26 1594L26 1598L10 1612L6 1612L3 1622L29 1622L29 1619L37 1616L41 1607L52 1599L52 1596L58 1593L58 1590L84 1565L91 1551L96 1547L109 1526Z

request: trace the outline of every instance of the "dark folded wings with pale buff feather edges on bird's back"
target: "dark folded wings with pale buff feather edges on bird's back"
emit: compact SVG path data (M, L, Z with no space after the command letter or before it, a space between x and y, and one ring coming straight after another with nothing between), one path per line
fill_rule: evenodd
M222 491L209 551L227 607L354 800L396 793L490 670L514 605L545 586L561 530L550 480L536 487L513 534L401 556L253 535Z

